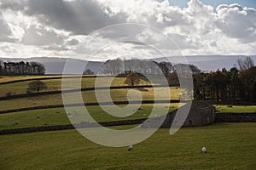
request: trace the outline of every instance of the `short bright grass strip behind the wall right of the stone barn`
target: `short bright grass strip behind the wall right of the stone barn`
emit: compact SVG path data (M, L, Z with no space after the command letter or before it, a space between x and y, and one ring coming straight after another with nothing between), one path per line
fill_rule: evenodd
M230 105L229 105L230 106ZM215 105L216 111L224 113L254 113L256 105Z

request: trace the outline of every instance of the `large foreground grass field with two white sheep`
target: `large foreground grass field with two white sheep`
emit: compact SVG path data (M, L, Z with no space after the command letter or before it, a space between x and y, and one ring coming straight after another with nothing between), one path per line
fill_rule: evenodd
M256 123L186 127L172 136L159 129L132 151L94 144L75 130L2 135L0 169L254 169L255 130Z

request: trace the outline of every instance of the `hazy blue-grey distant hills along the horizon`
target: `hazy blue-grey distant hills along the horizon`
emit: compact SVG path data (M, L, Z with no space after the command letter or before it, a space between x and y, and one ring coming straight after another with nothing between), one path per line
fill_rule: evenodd
M194 56L186 56L188 59L189 64L196 65L202 71L216 71L217 69L226 68L230 70L236 64L237 59L245 59L247 55L194 55ZM250 56L254 64L256 65L256 55ZM172 63L180 63L179 61L180 56L174 57L167 57L166 58L155 58L152 59L154 61L171 61ZM40 62L45 66L46 74L61 74L66 62L66 58L56 58L56 57L34 57L28 59L21 59L21 58L0 58L3 61L13 61L19 62L23 61L36 61ZM82 59L73 59L74 62L83 63L87 62ZM101 66L104 64L104 61L89 61L86 65L86 69L90 69L97 73Z

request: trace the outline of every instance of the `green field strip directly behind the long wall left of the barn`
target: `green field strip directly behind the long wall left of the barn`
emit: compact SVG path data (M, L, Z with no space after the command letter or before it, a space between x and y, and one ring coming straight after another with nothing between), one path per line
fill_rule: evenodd
M125 105L119 105L120 107ZM125 115L125 117L116 117L108 115L105 111L101 109L100 106L87 106L87 110L90 115L97 122L109 122L109 121L119 121L128 119L139 119L146 118L150 115L153 105L142 105L143 110L138 110L133 115ZM174 111L177 109L179 104L159 104L156 109L162 109L163 107L169 107L169 111ZM56 109L44 109L37 111L20 111L15 113L7 113L0 115L0 129L11 129L11 128L22 128L22 127L40 127L49 125L65 125L71 124L69 118L73 122L80 123L82 121L90 121L89 117L84 116L84 108L82 107L72 107L73 111L70 113L65 112L64 108ZM108 111L114 111L113 108L109 107ZM158 112L157 116L163 114ZM90 121L91 122L91 121Z

